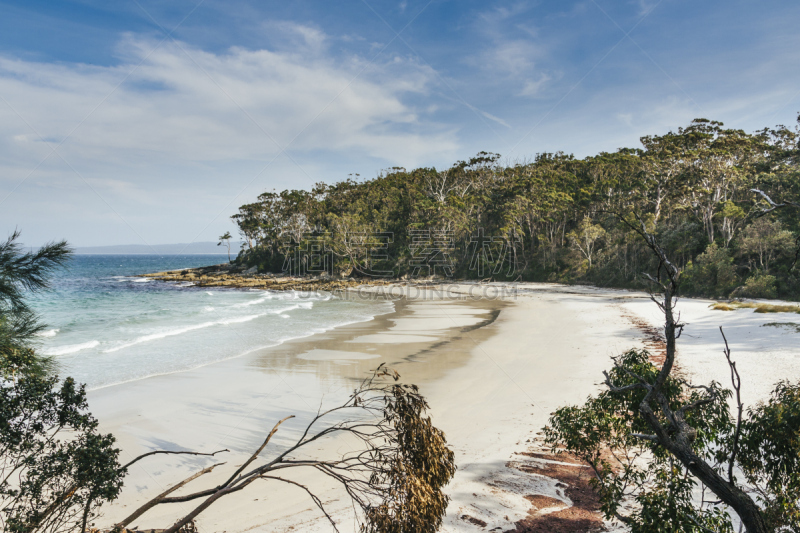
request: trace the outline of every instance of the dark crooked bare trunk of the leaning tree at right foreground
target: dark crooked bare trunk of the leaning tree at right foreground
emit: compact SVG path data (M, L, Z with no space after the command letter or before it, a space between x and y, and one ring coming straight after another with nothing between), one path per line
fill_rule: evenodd
M678 459L683 466L708 487L722 503L728 505L739 515L748 533L768 533L769 528L762 515L761 509L747 494L744 488L736 483L733 478L732 470L736 459L736 447L734 446L729 458L729 476L727 479L717 472L713 465L709 464L704 458L698 456L692 448L692 442L697 436L697 430L686 422L686 414L702 405L713 402L716 399L713 389L710 387L702 387L706 391L705 397L684 404L677 409L670 406L670 402L664 391L664 385L674 368L676 341L684 328L684 324L680 322L675 311L676 298L680 288L681 271L669 260L666 252L658 244L656 237L649 232L645 222L641 218L638 218L638 224L624 218L622 220L629 228L636 231L636 233L644 239L648 248L650 248L658 258L656 276L645 274L645 277L657 288L656 291L651 293L651 298L664 314L666 357L664 364L654 380L648 381L640 376L631 375L626 369L621 369L634 380L632 384L618 386L613 382L607 372L604 372L606 377L605 383L614 393L624 393L635 389L645 391L645 396L639 403L638 409L640 415L652 430L652 433L637 436L663 447L672 456ZM731 365L734 387L737 389L738 393L738 383L736 382L738 373L736 372L735 366L730 361L730 353L727 351L726 357L728 357L729 364ZM739 425L741 425L741 404L739 405ZM660 413L660 415L657 413ZM663 419L661 417L663 417Z

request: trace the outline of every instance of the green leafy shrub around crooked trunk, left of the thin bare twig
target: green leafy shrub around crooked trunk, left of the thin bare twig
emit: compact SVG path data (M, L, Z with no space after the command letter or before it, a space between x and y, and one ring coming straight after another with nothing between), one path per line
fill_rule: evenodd
M659 369L647 351L628 351L609 372L619 387L639 376L653 383ZM662 389L670 407L695 402L703 396L683 381L668 377ZM728 412L730 391L712 383L714 401L687 412L686 421L697 430L693 448L701 457L718 462L720 446L730 438L733 422ZM594 470L593 484L601 511L609 520L623 521L632 532L732 532L727 514L693 498L697 480L667 450L637 434L651 430L639 415L646 391L604 391L582 406L558 409L545 427L545 440L586 461ZM669 427L663 414L662 424ZM702 526L702 527L701 527Z

